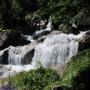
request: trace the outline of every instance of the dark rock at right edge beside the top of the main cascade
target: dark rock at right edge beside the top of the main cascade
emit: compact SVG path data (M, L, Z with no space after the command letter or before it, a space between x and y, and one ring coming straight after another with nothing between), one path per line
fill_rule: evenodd
M79 51L90 48L90 30L87 31L79 41Z

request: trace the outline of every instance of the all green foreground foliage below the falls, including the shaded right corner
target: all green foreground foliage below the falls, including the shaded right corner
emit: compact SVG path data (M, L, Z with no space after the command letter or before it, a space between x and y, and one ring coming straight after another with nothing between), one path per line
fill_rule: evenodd
M65 68L61 78L56 71L42 67L21 72L11 78L12 84L18 90L52 90L58 85L64 90L86 90L89 87L87 81L90 79L90 49L74 56Z

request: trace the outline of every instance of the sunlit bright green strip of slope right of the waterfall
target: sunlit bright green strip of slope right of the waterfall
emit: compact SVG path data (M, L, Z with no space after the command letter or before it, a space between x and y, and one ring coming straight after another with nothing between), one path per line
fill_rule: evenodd
M66 86L71 86L73 79L89 66L90 50L86 50L73 57L72 60L68 63L67 69L65 70L62 77L62 83Z

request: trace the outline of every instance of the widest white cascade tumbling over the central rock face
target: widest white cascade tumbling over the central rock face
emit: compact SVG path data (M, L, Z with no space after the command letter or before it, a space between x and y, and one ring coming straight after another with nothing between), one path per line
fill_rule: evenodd
M78 52L78 41L75 35L52 35L35 47L32 64L41 62L44 67L65 64Z

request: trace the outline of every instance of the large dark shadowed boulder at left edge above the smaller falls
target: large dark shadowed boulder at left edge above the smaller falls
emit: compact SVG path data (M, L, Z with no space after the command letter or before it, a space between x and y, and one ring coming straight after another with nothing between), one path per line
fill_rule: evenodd
M28 43L30 42L25 40L20 33L16 31L0 32L0 50L10 45L17 46Z

